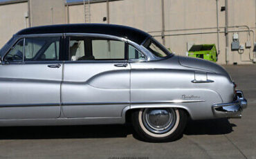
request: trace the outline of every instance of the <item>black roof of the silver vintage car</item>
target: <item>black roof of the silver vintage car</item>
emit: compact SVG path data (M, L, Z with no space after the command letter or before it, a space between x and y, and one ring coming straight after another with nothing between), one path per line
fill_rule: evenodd
M17 32L17 35L51 34L51 33L98 33L125 37L141 44L150 35L147 32L113 24L60 24L52 26L36 26Z

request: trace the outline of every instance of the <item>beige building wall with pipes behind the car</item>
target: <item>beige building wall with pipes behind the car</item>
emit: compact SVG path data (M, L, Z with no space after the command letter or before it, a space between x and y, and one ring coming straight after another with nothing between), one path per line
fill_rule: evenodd
M219 26L225 26L225 11L221 12L221 6L225 6L225 0L219 1ZM181 30L191 28L217 27L216 0L164 0L165 3L165 46L171 48L178 55L185 55L187 43L216 44L217 34L177 35L193 32L216 32L217 29ZM53 22L51 20L51 8L53 8ZM91 23L107 23L103 17L107 17L107 3L91 3ZM32 26L64 23L84 23L84 6L66 6L64 0L30 0ZM256 19L255 0L228 0L229 26L249 26L255 31ZM0 46L10 39L10 36L25 27L24 12L28 11L27 3L15 3L0 6ZM122 0L109 2L110 24L120 24L139 28L152 35L161 35L162 17L161 0ZM12 20L9 20L12 19ZM8 27L6 27L8 26ZM224 29L219 29L219 64L252 64L249 61L249 53L253 57L253 32L239 33L240 44L245 45L250 41L251 48L246 48L241 55L237 51L231 51L232 32L229 33L229 50L226 55L226 37ZM229 28L229 30L246 30L246 28ZM154 32L158 31L158 32ZM161 37L156 37L162 42Z

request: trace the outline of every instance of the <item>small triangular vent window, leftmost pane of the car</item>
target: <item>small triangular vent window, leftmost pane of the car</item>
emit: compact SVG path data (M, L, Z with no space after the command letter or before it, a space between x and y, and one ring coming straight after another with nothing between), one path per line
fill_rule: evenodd
M6 62L22 62L23 61L23 51L24 51L24 39L19 39L19 41L13 46L9 53L4 58Z

